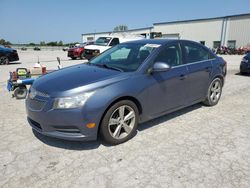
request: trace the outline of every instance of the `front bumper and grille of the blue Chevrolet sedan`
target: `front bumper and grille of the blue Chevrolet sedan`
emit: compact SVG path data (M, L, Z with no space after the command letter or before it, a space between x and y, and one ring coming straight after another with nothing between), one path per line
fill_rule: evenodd
M53 100L26 99L27 119L36 132L64 140L96 140L101 113L83 109L52 109ZM85 113L83 113L85 111ZM88 123L95 123L92 129Z

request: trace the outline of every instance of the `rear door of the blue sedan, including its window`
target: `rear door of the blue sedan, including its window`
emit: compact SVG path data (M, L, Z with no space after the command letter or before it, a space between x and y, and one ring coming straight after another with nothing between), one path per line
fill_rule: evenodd
M212 71L211 54L204 46L194 42L182 42L184 61L187 65L187 104L204 99Z

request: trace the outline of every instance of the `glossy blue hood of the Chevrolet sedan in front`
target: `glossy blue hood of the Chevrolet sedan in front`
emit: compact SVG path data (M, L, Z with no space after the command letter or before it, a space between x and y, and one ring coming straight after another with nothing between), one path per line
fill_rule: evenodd
M81 64L43 75L35 80L32 87L51 97L62 97L102 88L127 79L130 75L131 73Z

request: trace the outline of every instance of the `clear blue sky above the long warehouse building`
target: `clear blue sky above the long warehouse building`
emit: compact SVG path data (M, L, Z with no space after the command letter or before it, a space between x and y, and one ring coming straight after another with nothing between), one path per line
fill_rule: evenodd
M250 13L250 0L0 0L0 38L75 42L82 33Z

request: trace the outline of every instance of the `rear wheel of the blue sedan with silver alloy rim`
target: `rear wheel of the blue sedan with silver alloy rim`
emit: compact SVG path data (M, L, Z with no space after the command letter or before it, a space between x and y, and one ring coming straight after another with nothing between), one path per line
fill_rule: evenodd
M207 106L218 104L222 93L222 80L215 78L209 85L206 100L203 103Z

